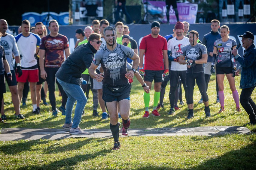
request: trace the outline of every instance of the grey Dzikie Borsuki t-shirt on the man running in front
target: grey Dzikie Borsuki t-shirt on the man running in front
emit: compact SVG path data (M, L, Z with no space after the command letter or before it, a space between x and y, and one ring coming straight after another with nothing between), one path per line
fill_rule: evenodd
M134 51L126 46L117 44L113 51L106 47L100 49L93 59L93 63L97 66L101 64L104 70L103 84L108 86L124 86L128 83L125 77L127 73L126 60L132 58Z

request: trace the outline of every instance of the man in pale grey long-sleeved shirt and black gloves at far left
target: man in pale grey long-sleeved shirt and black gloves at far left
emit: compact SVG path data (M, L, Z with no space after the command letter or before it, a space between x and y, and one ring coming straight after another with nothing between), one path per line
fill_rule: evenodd
M7 84L9 86L9 89L11 92L11 98L12 98L12 103L14 105L15 116L18 119L24 119L23 115L19 116L20 115L20 101L19 101L19 95L18 95L17 80L16 80L16 76L15 76L16 72L19 77L22 75L22 70L20 67L20 53L19 53L17 43L16 43L14 36L12 36L11 34L8 34L7 29L8 29L7 21L5 19L1 19L0 20L0 32L2 33L2 38L1 38L0 45L2 45L3 48L5 49L5 57L10 66L11 74L13 75L12 81L9 81L10 79L8 78L8 76L5 72L5 78L6 78ZM12 63L13 54L15 56L15 62L17 63L17 71L16 72L14 70L14 65ZM2 108L4 108L2 100L0 102L1 102ZM4 113L2 114L1 118L3 120L6 119L6 116Z

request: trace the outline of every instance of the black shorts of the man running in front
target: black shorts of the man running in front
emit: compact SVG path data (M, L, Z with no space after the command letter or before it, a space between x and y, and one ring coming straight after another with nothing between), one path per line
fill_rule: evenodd
M103 84L102 91L102 99L105 102L121 101L123 99L130 100L131 86L130 83L125 86L108 86Z

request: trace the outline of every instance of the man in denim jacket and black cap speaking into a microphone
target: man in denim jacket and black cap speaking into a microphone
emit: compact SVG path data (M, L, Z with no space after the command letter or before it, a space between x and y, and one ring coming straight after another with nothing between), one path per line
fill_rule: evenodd
M236 70L235 75L238 76L241 72L240 89L240 103L249 115L249 125L256 125L256 105L251 99L251 94L256 87L256 46L254 44L254 35L246 31L242 37L242 46L245 48L244 56L241 57L237 53L237 49L234 48L232 53L235 56L235 60L238 61L241 66Z

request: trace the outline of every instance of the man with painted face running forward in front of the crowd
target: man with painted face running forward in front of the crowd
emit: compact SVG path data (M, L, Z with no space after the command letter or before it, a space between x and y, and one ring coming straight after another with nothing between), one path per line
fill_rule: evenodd
M123 127L130 127L130 84L128 79L133 78L136 68L139 66L139 56L134 51L124 45L116 43L116 28L106 27L103 31L106 46L99 50L93 59L89 68L89 74L98 82L103 80L103 96L106 107L110 115L110 130L114 138L113 150L120 148L117 104L120 106L120 115L123 121ZM127 72L126 58L133 60L132 70ZM97 74L96 68L101 64L103 73Z

